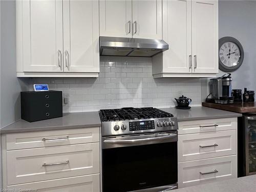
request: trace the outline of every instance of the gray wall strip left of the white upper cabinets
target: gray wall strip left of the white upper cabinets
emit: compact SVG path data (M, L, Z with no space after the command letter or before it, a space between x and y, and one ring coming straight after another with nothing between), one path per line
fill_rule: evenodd
M1 127L20 119L20 91L27 79L16 77L15 1L1 1Z

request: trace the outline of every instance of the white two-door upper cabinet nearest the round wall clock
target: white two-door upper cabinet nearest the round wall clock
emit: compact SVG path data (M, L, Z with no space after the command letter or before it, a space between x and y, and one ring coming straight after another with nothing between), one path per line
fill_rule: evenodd
M163 40L154 77L214 77L218 73L218 1L163 1Z

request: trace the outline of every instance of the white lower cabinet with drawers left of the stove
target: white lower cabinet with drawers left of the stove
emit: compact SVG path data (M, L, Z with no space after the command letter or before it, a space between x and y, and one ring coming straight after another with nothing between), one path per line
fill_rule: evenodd
M1 135L3 188L99 192L99 131L92 127Z

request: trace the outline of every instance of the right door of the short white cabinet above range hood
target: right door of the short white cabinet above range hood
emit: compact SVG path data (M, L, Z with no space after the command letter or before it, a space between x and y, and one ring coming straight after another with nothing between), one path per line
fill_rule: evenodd
M133 37L162 39L161 0L133 0Z

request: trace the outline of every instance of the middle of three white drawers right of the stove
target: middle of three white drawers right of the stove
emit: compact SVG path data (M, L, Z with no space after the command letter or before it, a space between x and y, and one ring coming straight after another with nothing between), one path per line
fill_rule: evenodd
M178 136L178 162L236 154L236 130Z

